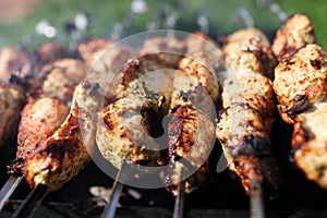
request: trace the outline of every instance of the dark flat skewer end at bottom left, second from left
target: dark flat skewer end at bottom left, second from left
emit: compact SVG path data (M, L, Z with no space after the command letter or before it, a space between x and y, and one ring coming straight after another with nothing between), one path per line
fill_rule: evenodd
M20 205L12 218L27 218L33 215L35 209L41 204L45 196L48 194L49 187L44 184L38 184L24 202Z

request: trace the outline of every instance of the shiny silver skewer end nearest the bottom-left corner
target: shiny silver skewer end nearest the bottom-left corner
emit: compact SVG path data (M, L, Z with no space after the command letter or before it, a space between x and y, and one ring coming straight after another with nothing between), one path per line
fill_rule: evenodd
M21 183L23 177L19 175L10 175L10 178L7 180L5 184L0 191L0 211L4 207L7 201L10 198L12 193L15 191L15 189Z

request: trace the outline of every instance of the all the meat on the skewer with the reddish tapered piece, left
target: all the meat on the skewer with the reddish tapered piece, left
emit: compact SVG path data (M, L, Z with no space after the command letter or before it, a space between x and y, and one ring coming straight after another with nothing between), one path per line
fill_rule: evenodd
M51 64L45 82L37 85L39 88L31 90L28 102L21 112L16 159L9 166L10 173L27 173L26 161L66 119L72 89L84 75L80 61L58 60ZM65 93L62 94L58 87Z

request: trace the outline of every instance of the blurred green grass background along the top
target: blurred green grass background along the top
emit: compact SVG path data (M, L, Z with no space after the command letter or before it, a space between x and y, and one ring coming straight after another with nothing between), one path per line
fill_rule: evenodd
M1 1L1 0L0 0ZM5 1L5 0L4 0ZM35 1L35 0L34 0ZM316 29L318 44L327 48L327 1L326 0L276 0L276 4L261 5L267 0L147 0L147 10L131 15L132 0L38 0L28 15L11 22L0 20L0 46L20 46L22 41L31 48L46 40L59 40L70 44L72 38L72 23L77 13L86 13L89 25L80 33L84 37L111 37L114 24L125 21L121 37L147 31L150 26L167 28L167 19L175 19L175 29L193 32L199 31L198 14L203 14L209 24L208 34L215 39L245 27L240 14L250 15L254 26L263 29L271 39L276 29L281 25L278 16L271 12L271 7L280 7L287 15L304 13L311 17ZM2 9L3 10L3 9ZM244 13L245 12L245 13ZM14 15L14 14L13 14ZM35 32L40 21L47 21L57 29L55 38L47 38ZM205 20L206 21L206 20ZM82 35L81 35L82 34Z

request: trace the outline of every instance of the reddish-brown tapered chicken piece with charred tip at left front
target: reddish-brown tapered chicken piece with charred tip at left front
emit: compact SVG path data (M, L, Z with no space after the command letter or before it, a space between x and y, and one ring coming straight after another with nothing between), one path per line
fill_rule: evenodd
M51 136L69 113L69 107L53 98L29 99L22 110L16 159L9 167L12 174L25 173L25 162L40 144Z

